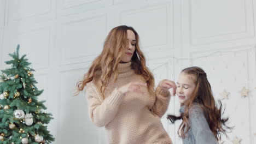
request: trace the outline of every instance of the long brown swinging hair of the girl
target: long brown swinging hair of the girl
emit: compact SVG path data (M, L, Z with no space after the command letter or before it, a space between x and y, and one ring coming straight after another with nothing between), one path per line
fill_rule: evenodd
M224 112L222 112L222 103L219 101L220 105L216 105L212 94L211 85L207 80L205 71L199 67L189 67L183 69L182 73L193 75L195 77L195 79L193 78L195 90L191 94L190 99L185 101L184 104L181 104L181 106L185 105L184 113L182 113L179 117L168 115L167 118L170 119L172 123L174 123L177 119L183 119L181 125L179 125L178 135L184 139L191 127L189 122L189 110L194 104L197 104L202 108L213 135L217 140L220 140L221 133L226 136L226 130L232 129L232 127L228 127L226 125L229 118L222 118Z

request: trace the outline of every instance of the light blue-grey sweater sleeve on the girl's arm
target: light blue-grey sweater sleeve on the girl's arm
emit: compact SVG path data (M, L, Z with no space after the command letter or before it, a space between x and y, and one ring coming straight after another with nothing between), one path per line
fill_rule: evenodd
M192 109L189 111L189 121L196 144L218 144L200 106L192 106Z

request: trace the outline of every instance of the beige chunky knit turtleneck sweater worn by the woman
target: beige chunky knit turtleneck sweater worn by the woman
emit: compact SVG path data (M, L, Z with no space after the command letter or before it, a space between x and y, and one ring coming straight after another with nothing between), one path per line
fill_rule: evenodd
M131 62L118 65L118 79L109 80L105 98L100 92L100 76L87 84L91 121L97 127L105 127L107 143L172 143L160 121L167 110L170 92L160 87L156 88L155 96L149 94L147 87L141 87L144 94L117 91L129 82L146 82L135 74Z

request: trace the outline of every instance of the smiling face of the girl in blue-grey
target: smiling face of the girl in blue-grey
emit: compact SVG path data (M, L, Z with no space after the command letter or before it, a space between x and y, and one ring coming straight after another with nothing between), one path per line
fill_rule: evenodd
M184 103L186 100L190 99L192 93L195 90L194 80L196 77L194 75L189 75L181 73L177 82L176 93L179 97L179 103Z

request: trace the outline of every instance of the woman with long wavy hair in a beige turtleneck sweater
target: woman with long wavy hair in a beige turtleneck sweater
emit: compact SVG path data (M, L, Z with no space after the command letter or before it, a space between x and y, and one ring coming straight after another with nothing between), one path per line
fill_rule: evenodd
M86 86L89 116L105 127L107 143L172 143L160 118L170 101L168 89L176 91L176 85L164 80L154 90L138 42L132 27L113 28L78 90Z

